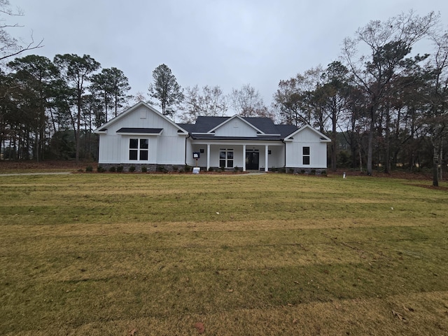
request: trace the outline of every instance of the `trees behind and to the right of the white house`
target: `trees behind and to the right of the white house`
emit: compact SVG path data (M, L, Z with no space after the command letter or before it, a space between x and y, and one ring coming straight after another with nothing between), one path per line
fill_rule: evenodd
M334 171L338 163L365 167L369 175L374 167L386 173L398 165L430 167L438 186L447 169L448 33L440 14L411 10L369 22L344 39L339 60L280 80L270 108L251 85L228 96L218 86L181 90L165 64L153 79L151 97L164 114L177 106L181 120L221 116L230 106L241 116L318 128L332 139Z

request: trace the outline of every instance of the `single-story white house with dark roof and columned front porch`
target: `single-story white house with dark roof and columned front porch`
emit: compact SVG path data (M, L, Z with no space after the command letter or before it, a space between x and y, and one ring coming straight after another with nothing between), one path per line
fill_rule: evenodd
M327 169L327 144L321 132L306 125L275 125L270 118L199 117L176 124L139 102L94 133L99 134L99 165L134 166L148 172L207 169L316 172Z

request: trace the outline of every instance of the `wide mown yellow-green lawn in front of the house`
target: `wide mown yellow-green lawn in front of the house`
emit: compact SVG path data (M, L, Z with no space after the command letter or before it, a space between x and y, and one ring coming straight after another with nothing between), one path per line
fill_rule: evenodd
M0 335L448 335L430 184L0 176Z

